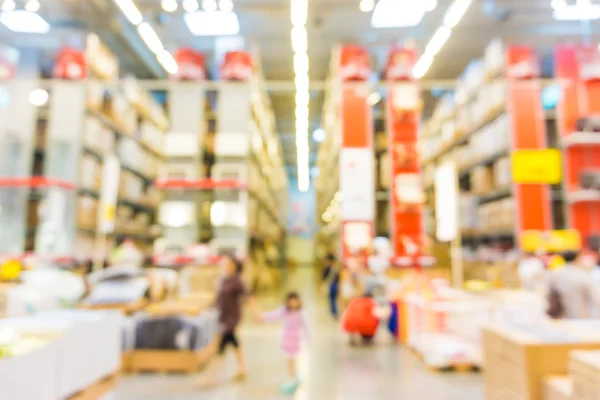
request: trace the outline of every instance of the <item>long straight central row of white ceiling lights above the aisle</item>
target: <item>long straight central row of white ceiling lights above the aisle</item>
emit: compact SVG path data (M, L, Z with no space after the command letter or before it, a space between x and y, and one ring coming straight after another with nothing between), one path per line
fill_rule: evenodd
M296 85L296 165L298 167L298 190L308 191L310 187L310 146L308 142L309 131L309 103L310 80L308 77L308 36L306 33L306 20L308 17L308 0L291 0L292 21L292 49L294 50L294 74Z

